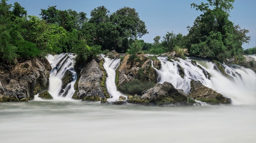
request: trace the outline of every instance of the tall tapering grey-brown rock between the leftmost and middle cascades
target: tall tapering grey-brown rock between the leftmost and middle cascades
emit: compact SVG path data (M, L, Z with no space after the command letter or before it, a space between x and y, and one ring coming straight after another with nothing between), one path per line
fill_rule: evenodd
M99 56L98 58L99 61L103 61L102 57ZM75 97L89 101L106 101L106 96L101 86L103 77L104 73L101 71L96 59L93 59L79 73L78 89Z

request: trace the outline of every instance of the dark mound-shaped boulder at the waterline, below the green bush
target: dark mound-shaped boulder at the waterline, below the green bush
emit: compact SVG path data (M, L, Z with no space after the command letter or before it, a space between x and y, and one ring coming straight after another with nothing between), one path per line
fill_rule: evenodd
M148 89L141 96L141 100L148 100L155 105L190 105L187 103L186 94L180 89L175 89L170 82L158 83L155 87Z

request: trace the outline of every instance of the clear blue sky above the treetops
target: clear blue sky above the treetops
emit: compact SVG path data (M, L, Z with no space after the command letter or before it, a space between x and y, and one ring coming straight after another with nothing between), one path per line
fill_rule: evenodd
M47 9L48 6L57 6L59 10L72 9L76 12L85 12L90 18L90 12L98 6L105 6L110 13L117 11L124 6L135 8L139 17L145 22L149 34L141 39L145 42L153 43L156 36L163 37L167 32L175 34L188 34L187 26L193 26L193 22L200 11L191 9L190 4L207 0L8 0L7 3L14 4L18 2L25 8L28 15L38 17L41 9ZM256 0L235 0L234 9L230 12L229 20L241 28L250 32L249 44L244 44L243 48L252 48L256 46ZM163 38L160 39L160 41Z

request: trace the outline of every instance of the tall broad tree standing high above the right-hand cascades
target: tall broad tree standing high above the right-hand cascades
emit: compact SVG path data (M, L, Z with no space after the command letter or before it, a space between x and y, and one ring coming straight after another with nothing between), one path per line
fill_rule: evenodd
M239 56L242 44L249 41L249 30L240 29L229 21L234 0L207 0L208 3L191 4L203 12L189 28L186 47L193 56L224 62L226 58Z

